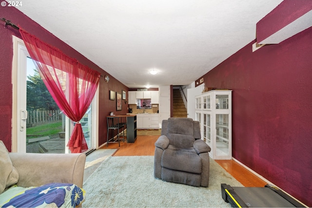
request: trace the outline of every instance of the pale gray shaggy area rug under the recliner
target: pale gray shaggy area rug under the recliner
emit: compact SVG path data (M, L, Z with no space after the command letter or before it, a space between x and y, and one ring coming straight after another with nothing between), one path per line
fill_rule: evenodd
M110 156L83 184L82 207L231 207L221 183L242 187L212 159L204 188L154 178L154 156Z

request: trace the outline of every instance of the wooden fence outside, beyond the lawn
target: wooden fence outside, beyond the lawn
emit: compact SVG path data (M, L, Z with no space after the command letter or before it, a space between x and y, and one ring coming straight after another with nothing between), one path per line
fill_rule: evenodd
M27 112L27 126L33 124L43 124L49 122L56 122L62 120L62 113L60 110L56 111L28 111Z

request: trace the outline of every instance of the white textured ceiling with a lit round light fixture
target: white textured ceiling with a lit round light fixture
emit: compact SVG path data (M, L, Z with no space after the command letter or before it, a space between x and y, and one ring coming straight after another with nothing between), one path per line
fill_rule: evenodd
M254 40L256 23L280 2L27 0L17 8L127 87L141 88L191 84Z

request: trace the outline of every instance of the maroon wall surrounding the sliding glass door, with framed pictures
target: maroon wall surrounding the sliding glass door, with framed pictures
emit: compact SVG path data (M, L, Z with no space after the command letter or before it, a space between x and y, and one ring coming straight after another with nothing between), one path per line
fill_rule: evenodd
M110 76L109 83L106 83L104 76L105 71L99 68L86 57L79 54L76 50L68 46L66 43L55 37L53 34L42 28L38 23L29 19L14 7L0 6L0 18L11 20L13 23L20 25L27 32L37 36L48 44L51 44L66 55L76 58L80 63L89 66L91 69L101 73L99 83L99 145L106 142L106 116L109 112L116 112L116 100L109 100L109 90L121 93L121 90L128 92L128 87L120 83L114 77ZM61 27L61 25L60 25ZM8 26L4 28L4 22L0 21L0 140L4 142L7 149L11 151L12 145L12 58L13 44L12 35L21 38L18 30ZM128 96L127 96L128 99ZM128 105L122 102L122 111L116 114L125 114L128 112Z

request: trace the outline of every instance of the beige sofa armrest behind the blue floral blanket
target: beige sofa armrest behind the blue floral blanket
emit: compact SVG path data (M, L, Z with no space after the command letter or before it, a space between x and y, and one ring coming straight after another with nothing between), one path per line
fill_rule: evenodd
M10 153L20 174L20 187L47 183L73 183L82 188L86 155L84 153Z

